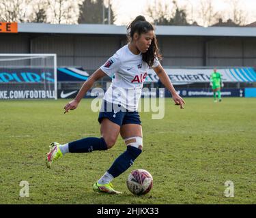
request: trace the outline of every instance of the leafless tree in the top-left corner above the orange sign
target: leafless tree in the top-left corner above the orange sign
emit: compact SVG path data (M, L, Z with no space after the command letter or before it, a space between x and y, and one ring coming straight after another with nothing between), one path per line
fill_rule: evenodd
M33 0L0 0L0 20L3 22L28 21L28 9Z

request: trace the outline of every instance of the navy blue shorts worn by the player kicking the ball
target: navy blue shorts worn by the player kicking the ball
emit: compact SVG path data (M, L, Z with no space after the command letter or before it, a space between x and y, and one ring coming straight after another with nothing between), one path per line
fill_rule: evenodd
M108 110L106 110L106 108ZM115 110L115 108L118 108L118 110ZM114 105L112 103L104 101L103 99L102 108L100 109L100 114L98 117L99 123L101 123L102 119L104 118L109 119L110 121L112 121L113 123L116 123L120 127L128 123L141 125L141 118L139 116L139 112L128 111L119 105L118 106Z

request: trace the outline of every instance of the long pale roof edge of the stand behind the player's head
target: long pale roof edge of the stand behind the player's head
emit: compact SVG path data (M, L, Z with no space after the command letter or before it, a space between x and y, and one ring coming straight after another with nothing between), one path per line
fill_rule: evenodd
M19 33L66 33L126 35L125 26L116 25L51 25L46 23L18 23ZM232 36L256 37L255 27L195 27L195 26L156 26L156 35L190 36Z

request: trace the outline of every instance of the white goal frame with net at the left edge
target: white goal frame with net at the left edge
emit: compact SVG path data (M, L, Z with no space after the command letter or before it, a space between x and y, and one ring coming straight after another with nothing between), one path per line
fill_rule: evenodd
M57 99L56 54L0 54L1 99Z

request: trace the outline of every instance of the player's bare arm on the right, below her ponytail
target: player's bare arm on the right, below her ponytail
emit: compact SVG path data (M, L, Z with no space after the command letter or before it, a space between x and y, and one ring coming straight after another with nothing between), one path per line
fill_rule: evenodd
M175 91L173 84L171 83L171 80L167 73L165 72L165 69L162 68L162 65L158 65L157 67L153 67L154 72L156 72L156 75L159 77L162 84L165 85L165 87L171 92L171 96L173 97L173 101L176 105L180 105L180 109L184 108L185 101L180 97L180 95L177 94Z

